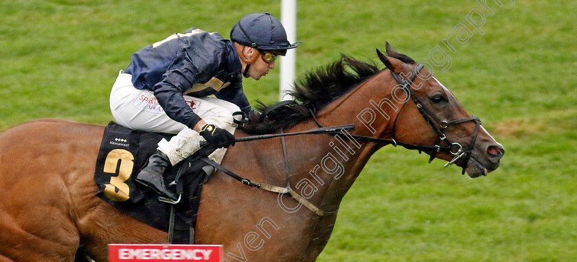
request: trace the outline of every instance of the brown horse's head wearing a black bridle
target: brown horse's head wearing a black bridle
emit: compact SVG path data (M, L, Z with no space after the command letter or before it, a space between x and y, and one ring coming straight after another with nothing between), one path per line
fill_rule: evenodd
M378 50L377 53L396 82L406 86L398 88L399 97L404 95L406 99L393 124L394 139L412 145L432 145L423 148L431 160L436 157L455 163L472 178L499 167L504 147L427 69L392 49L389 43L387 55Z

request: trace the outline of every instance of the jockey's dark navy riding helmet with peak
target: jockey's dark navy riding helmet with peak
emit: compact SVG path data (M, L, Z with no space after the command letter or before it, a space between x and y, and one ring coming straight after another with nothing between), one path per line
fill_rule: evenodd
M286 49L297 47L288 43L284 27L269 13L247 14L230 31L230 39L241 45L260 50L273 51L282 56Z

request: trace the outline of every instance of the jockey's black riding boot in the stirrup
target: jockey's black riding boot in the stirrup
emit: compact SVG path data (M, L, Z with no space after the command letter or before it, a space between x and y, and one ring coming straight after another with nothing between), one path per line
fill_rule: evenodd
M160 150L157 150L155 154L152 154L152 156L148 158L148 164L146 167L144 167L144 169L140 171L140 173L138 173L135 181L139 182L140 184L144 184L146 187L150 187L152 190L156 191L163 197L177 201L179 196L166 189L166 186L164 185L164 179L162 177L164 170L170 166L171 165L168 156L166 156L166 154Z

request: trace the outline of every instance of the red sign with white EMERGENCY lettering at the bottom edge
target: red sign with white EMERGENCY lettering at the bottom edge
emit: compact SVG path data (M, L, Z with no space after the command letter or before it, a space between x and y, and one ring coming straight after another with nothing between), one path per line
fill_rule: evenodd
M222 245L110 244L109 261L201 261L218 262Z

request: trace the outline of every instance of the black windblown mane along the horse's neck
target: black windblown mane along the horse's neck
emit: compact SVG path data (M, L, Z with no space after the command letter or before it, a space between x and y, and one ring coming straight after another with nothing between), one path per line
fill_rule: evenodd
M389 56L406 63L414 63L414 60L401 53L393 53ZM294 103L267 106L258 101L256 108L260 112L267 112L266 117L249 119L242 125L242 130L249 134L264 134L278 131L287 126L294 126L299 121L311 117L310 111L319 112L330 102L335 101L379 71L381 69L378 69L374 62L362 62L350 56L341 55L341 58L336 62L309 71L305 73L302 80L295 82L294 91L290 92L295 97Z

